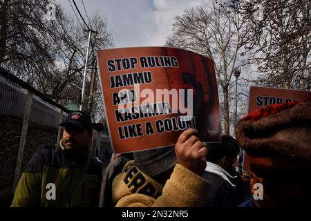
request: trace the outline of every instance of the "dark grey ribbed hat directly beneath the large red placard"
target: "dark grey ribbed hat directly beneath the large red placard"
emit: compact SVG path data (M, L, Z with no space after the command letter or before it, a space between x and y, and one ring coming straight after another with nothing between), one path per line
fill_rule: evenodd
M174 146L134 153L135 165L149 177L168 171L177 162Z

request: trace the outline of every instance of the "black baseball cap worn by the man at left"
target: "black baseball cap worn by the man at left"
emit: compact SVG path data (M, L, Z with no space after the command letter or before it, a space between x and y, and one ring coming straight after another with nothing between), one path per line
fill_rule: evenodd
M59 126L66 126L68 124L71 124L80 130L86 129L88 132L93 131L91 118L83 111L74 111L70 113L65 121L62 122L62 124L59 124Z

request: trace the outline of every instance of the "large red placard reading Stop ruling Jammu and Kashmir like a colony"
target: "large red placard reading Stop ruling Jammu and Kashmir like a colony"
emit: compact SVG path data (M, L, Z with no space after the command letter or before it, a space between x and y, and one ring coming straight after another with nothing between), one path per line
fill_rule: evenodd
M115 153L172 146L187 128L220 142L211 59L164 47L98 50L97 59Z

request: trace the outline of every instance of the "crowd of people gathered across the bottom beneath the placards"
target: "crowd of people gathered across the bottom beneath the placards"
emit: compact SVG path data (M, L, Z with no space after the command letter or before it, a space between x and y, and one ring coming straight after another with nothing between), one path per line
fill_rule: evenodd
M88 157L91 119L68 115L62 140L33 155L12 206L305 206L311 196L311 103L265 106L243 117L235 138L205 144L187 129L175 146ZM250 170L234 164L241 148ZM239 155L240 154L240 155ZM54 185L54 186L53 186Z

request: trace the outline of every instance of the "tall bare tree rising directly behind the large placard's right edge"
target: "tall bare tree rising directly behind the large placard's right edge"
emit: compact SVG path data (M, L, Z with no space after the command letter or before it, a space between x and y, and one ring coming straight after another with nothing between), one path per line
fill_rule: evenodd
M224 133L229 135L229 104L235 95L234 69L244 64L238 61L243 46L243 23L236 6L212 1L209 5L185 10L184 15L175 18L173 34L167 39L167 46L193 50L210 57L216 64L216 77L220 86L221 111Z

